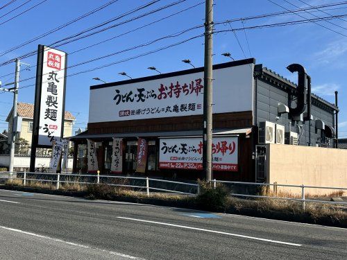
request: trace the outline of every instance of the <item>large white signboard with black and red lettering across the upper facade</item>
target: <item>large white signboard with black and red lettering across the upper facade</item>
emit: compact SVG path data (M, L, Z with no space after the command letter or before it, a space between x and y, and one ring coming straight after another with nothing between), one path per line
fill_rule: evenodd
M214 69L213 78L214 113L253 109L253 63ZM203 114L203 71L90 90L89 123L196 114Z

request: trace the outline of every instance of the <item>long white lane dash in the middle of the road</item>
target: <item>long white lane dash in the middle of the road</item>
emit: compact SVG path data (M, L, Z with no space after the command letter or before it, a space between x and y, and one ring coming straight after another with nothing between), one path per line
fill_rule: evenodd
M170 226L170 227L180 227L180 228L198 230L198 231L203 231L203 232L210 232L210 233L215 233L215 234L223 234L223 235L227 235L227 236L236 236L236 237L241 237L243 239L253 239L253 240L257 240L257 241L265 241L265 242L278 243L278 244L283 244L283 245L302 246L301 244L296 244L296 243L288 243L288 242L276 241L276 240L271 240L271 239L261 239L261 238L255 237L255 236L244 236L244 235L240 235L240 234L232 234L232 233L228 233L228 232L221 232L221 231L217 231L217 230L203 229L203 228L198 228L198 227L189 227L189 226L185 226L185 225L176 225L176 224L170 224L170 223L164 223L164 222L158 222L158 221L142 220L142 219L137 219L137 218L125 218L125 217L117 217L117 218L139 221L139 222L144 222L144 223L166 225L166 226Z

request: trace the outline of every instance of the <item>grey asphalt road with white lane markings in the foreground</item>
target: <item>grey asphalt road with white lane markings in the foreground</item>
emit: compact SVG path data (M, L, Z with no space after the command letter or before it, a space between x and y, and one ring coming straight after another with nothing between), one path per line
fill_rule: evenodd
M0 259L346 259L347 229L0 190Z

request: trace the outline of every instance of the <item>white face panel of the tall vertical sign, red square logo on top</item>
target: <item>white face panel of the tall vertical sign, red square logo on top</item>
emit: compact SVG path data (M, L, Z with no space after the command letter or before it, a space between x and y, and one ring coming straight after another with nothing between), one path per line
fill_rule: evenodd
M66 53L44 46L39 116L39 146L62 137Z

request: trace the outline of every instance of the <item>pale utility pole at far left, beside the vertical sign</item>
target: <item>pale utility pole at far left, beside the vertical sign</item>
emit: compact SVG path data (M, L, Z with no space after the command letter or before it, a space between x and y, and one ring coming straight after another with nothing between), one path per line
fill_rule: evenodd
M13 89L13 107L12 107L12 130L10 132L10 166L8 171L10 171L10 177L12 177L13 172L13 162L15 161L15 141L16 141L16 132L15 132L15 117L17 116L17 99L18 99L18 85L19 85L19 70L20 62L19 59L16 59L16 70L15 70L15 87Z

